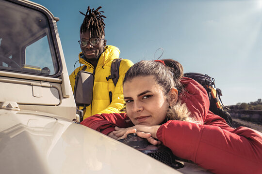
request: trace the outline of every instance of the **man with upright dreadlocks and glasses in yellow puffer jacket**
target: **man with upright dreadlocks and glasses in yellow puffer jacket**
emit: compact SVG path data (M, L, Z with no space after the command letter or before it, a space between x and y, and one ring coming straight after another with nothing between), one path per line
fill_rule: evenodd
M83 64L69 75L71 87L74 91L76 74L81 71L94 73L95 81L93 87L92 104L86 107L84 118L101 113L119 113L124 107L122 82L127 70L133 65L130 60L123 59L119 67L119 79L114 85L112 79L107 80L110 75L111 64L114 59L119 58L120 51L117 47L106 45L104 32L104 19L106 18L98 11L88 6L84 20L80 28L79 62Z

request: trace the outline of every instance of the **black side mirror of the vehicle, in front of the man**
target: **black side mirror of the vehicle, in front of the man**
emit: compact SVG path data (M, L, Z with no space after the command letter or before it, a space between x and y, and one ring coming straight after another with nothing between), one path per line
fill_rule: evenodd
M94 86L94 74L80 71L76 76L76 83L74 89L74 98L76 105L83 106L82 110L78 110L77 114L80 116L82 121L85 107L89 106L92 102L93 97L93 86Z

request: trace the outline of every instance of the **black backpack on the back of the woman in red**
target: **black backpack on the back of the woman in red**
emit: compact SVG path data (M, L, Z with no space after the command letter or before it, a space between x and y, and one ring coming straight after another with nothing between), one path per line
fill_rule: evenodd
M208 76L207 74L204 75L201 73L184 73L184 77L189 77L196 80L206 89L210 101L209 110L215 115L224 118L228 125L232 127L232 118L229 112L223 110L223 107L227 110L230 109L224 106L223 102L221 101L220 96L222 96L222 92L219 88L215 87L214 78Z

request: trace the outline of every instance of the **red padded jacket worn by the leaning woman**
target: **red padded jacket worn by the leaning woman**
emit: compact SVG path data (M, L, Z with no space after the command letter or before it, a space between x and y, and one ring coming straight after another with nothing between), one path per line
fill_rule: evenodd
M246 127L228 126L209 111L206 90L195 80L182 78L185 102L191 115L204 124L169 120L157 131L157 138L173 154L217 174L262 174L262 133ZM101 114L86 118L82 125L108 134L115 126L134 126L126 114Z

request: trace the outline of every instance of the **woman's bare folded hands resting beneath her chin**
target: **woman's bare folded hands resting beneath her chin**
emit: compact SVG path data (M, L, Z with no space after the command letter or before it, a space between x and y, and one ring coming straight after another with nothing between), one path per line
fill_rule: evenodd
M159 145L161 144L160 141L155 140L157 138L156 132L159 129L160 126L145 126L145 125L135 125L130 128L118 128L115 127L115 131L108 134L108 136L115 138L117 137L117 140L127 138L127 135L130 133L136 133L137 136L141 138L147 139L149 143L152 145Z

